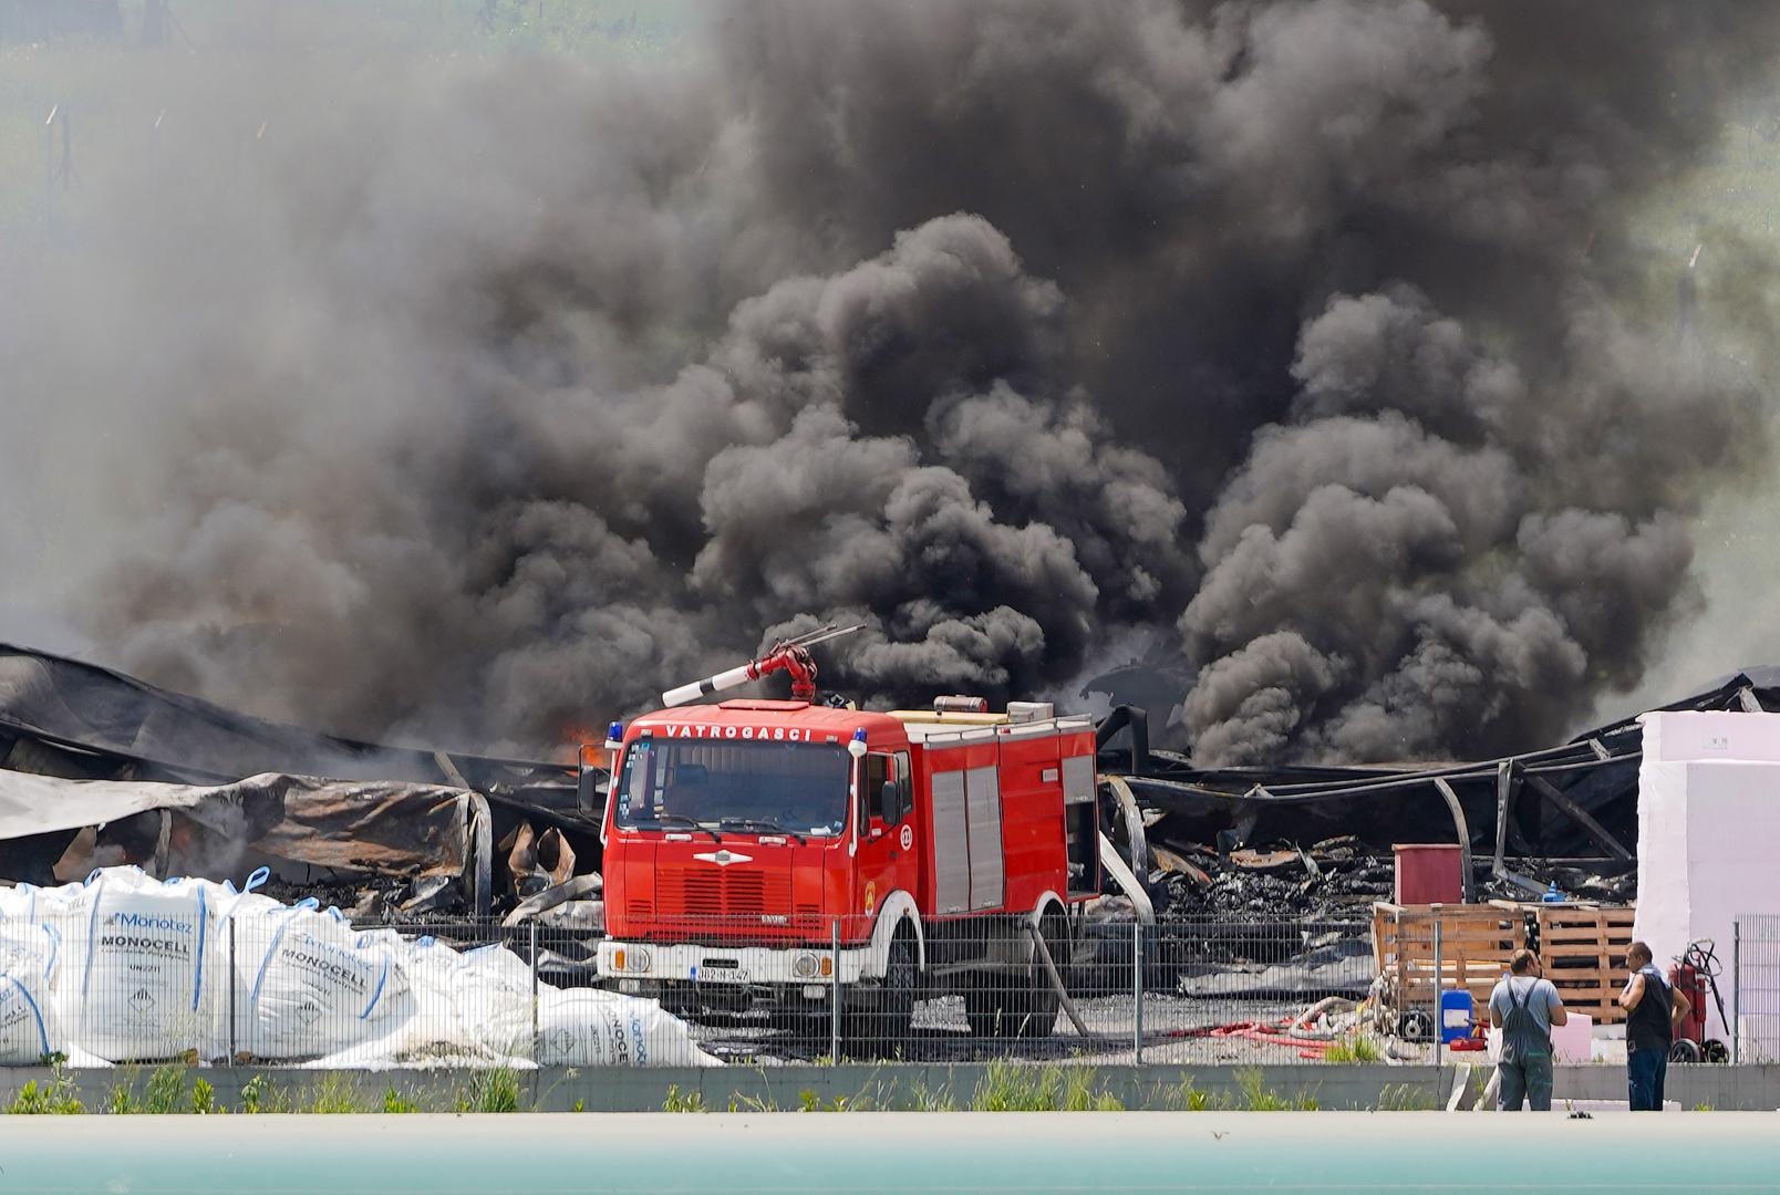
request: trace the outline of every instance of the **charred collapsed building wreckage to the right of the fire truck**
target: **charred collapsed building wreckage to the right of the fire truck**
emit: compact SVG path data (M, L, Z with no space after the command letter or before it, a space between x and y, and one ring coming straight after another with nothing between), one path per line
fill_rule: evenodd
M1780 669L1746 669L1663 710L1780 710ZM1625 903L1636 896L1641 759L1636 717L1499 759L1274 768L1198 768L1152 749L1143 710L1118 708L1100 726L1100 770L1139 807L1134 864L1162 918L1363 907L1388 898L1394 843L1461 845L1472 900L1536 898L1556 882ZM1107 816L1127 848L1130 820Z

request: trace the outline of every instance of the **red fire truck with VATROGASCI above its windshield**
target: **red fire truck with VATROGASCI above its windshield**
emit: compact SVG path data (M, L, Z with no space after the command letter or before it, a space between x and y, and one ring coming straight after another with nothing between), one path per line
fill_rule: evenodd
M584 749L611 766L600 974L691 1015L829 1014L838 990L849 1037L879 1042L918 994L961 992L974 1033L1048 1035L1043 955L1068 966L1072 909L1100 891L1091 720L817 704L810 647L837 633L662 694L607 759ZM790 701L680 704L778 670Z

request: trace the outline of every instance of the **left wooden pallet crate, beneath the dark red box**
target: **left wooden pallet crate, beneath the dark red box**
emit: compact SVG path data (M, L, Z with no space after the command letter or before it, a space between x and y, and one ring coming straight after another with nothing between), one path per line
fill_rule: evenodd
M1497 905L1372 905L1372 964L1397 1008L1433 1008L1436 990L1458 989L1483 1007L1525 942L1525 916Z

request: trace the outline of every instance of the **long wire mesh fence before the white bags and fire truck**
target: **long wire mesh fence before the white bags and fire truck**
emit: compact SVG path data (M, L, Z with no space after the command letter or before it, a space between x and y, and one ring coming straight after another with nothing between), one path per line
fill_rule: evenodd
M77 1060L109 1062L1433 1060L1440 1014L1426 980L1449 967L1431 930L1399 937L1401 983L1380 973L1358 918L1059 914L917 928L753 914L600 937L310 912L217 919L187 957L139 957L128 941L110 957L87 950L64 960L43 1005Z

